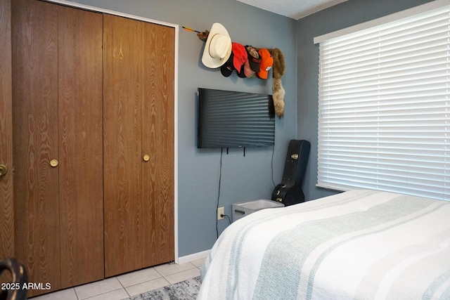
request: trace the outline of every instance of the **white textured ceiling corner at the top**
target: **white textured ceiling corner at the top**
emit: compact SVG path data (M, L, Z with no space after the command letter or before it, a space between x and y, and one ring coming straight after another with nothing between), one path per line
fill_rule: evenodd
M238 0L298 20L347 0Z

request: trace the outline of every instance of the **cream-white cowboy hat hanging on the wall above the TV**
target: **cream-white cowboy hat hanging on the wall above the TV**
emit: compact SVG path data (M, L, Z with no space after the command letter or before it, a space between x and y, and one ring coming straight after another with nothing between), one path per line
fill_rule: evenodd
M231 55L231 48L231 38L225 27L214 23L203 50L203 65L210 68L224 65Z

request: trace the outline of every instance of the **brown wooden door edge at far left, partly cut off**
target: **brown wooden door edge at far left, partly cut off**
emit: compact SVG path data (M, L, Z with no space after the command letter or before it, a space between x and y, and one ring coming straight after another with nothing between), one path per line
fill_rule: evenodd
M0 260L14 256L11 0L0 1Z

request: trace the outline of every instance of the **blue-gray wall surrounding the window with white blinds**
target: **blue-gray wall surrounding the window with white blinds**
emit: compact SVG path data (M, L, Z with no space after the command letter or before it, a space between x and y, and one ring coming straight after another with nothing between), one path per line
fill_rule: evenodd
M336 192L316 188L319 45L314 37L380 18L430 0L349 0L297 22L297 134L311 141L311 155L304 181L307 200Z

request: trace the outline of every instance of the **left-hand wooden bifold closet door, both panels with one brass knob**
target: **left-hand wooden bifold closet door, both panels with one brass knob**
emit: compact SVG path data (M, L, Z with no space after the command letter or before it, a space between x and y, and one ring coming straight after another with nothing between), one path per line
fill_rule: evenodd
M98 13L13 1L15 253L51 291L104 278L102 29Z

